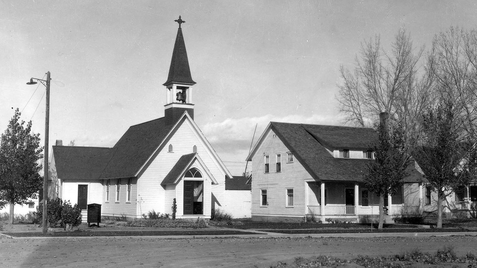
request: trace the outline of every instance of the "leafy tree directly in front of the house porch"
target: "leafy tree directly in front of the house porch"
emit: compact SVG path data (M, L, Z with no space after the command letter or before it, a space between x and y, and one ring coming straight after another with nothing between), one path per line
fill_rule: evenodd
M384 196L396 193L402 180L409 175L406 169L410 164L402 126L387 124L386 117L387 113L377 128L378 142L373 146L375 160L368 164L368 173L364 177L368 190L379 196L378 229L383 228Z

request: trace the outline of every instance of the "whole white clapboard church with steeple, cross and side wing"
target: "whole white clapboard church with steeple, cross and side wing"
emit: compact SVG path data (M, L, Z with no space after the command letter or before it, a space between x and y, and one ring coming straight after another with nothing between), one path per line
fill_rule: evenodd
M176 217L210 218L232 175L194 122L194 84L179 23L164 117L129 127L114 147L53 146L49 197L129 218L172 214L175 199Z

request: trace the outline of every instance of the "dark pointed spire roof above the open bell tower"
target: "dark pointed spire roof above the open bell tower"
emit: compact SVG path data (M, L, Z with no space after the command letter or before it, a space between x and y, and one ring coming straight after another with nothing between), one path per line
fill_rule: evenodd
M196 83L192 80L190 74L186 44L184 42L184 36L182 36L181 28L177 30L176 42L174 44L174 50L172 51L171 65L169 67L169 75L164 85L172 82L192 85Z

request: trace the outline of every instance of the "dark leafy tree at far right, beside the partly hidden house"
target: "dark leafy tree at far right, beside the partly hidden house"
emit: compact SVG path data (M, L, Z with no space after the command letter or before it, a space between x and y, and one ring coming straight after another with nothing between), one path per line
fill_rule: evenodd
M466 186L476 171L475 144L459 138L459 120L451 102L429 109L423 116L423 144L415 158L424 171L426 187L437 192L437 228L442 228L446 196Z

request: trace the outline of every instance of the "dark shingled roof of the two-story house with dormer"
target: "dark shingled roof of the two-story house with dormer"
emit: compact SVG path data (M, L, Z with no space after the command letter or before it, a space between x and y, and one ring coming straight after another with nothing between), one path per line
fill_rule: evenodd
M337 148L342 148L342 144L345 144L350 149L366 149L376 138L376 134L372 134L374 132L372 129L278 122L270 122L270 125L295 158L315 179L363 181L367 163L372 160L335 158L328 153L321 142L334 144ZM408 168L408 173L410 175L404 179L404 182L418 182L422 179L422 175L415 170L414 166Z

